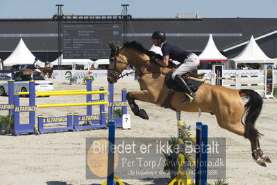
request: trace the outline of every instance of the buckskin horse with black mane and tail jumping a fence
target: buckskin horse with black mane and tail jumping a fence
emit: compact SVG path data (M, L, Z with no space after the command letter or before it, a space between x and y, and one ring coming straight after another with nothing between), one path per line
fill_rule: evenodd
M148 120L146 111L140 109L135 100L158 106L165 104L170 91L165 84L165 78L170 75L172 66L163 67L151 60L153 52L147 51L136 41L126 42L123 47L109 45L111 53L108 82L116 83L128 65L135 67L140 77L141 90L129 91L126 99L135 115ZM262 134L255 129L255 121L262 109L262 97L258 93L249 89L233 90L203 83L196 91L196 95L196 99L192 102L183 104L186 98L184 93L174 92L168 104L175 111L198 112L200 109L202 112L214 114L219 127L250 140L254 161L260 166L267 166L265 162L271 163L269 156L263 154L260 149L259 138ZM244 96L249 97L245 105L242 102Z

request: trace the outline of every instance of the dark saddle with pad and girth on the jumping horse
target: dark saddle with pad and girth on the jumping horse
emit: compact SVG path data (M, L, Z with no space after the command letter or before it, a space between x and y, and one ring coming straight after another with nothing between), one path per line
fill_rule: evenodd
M172 79L171 77L171 74L173 74L175 70L176 68L168 72L165 77L165 85L167 86L167 88L169 88L169 93L167 94L165 102L161 105L164 108L170 108L171 110L174 110L174 111L176 111L176 109L173 108L169 103L172 95L175 93L175 91L185 93L185 90L183 90L183 88L181 88L181 86L179 86L178 83L176 83L176 81L174 81L174 79ZM205 82L204 75L205 73L195 74L195 73L187 72L182 76L182 79L185 80L185 82L187 83L187 86L189 86L193 92L196 92L199 89L199 87Z

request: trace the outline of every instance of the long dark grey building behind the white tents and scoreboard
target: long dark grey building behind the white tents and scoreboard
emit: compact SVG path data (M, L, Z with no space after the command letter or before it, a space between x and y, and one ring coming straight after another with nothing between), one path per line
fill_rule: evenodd
M70 21L63 23L70 23ZM105 21L98 19L93 23L104 25ZM2 60L12 53L20 38L40 61L54 61L58 57L58 22L56 20L0 19L0 28L0 58ZM269 58L277 58L276 18L133 18L127 22L126 38L128 41L137 40L149 49L152 46L151 34L158 30L167 33L169 42L196 54L203 51L209 35L212 34L215 45L227 58L240 54L253 35L259 47ZM121 37L123 40L123 33Z

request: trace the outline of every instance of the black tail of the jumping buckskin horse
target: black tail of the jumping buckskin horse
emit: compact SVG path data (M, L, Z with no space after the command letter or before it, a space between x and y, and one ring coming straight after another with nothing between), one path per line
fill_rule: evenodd
M242 124L244 124L244 137L245 138L260 138L262 134L255 129L255 121L260 115L260 111L262 111L262 97L251 89L242 89L239 91L241 96L246 95L249 97L249 101L244 105L244 115L245 120Z

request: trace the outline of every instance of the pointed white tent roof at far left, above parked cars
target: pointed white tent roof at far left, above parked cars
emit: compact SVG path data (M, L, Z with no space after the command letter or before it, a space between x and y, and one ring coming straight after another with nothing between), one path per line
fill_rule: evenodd
M34 61L35 56L33 56L21 38L15 50L12 51L12 54L10 54L10 56L3 61L3 65L12 66L17 64L33 64Z

